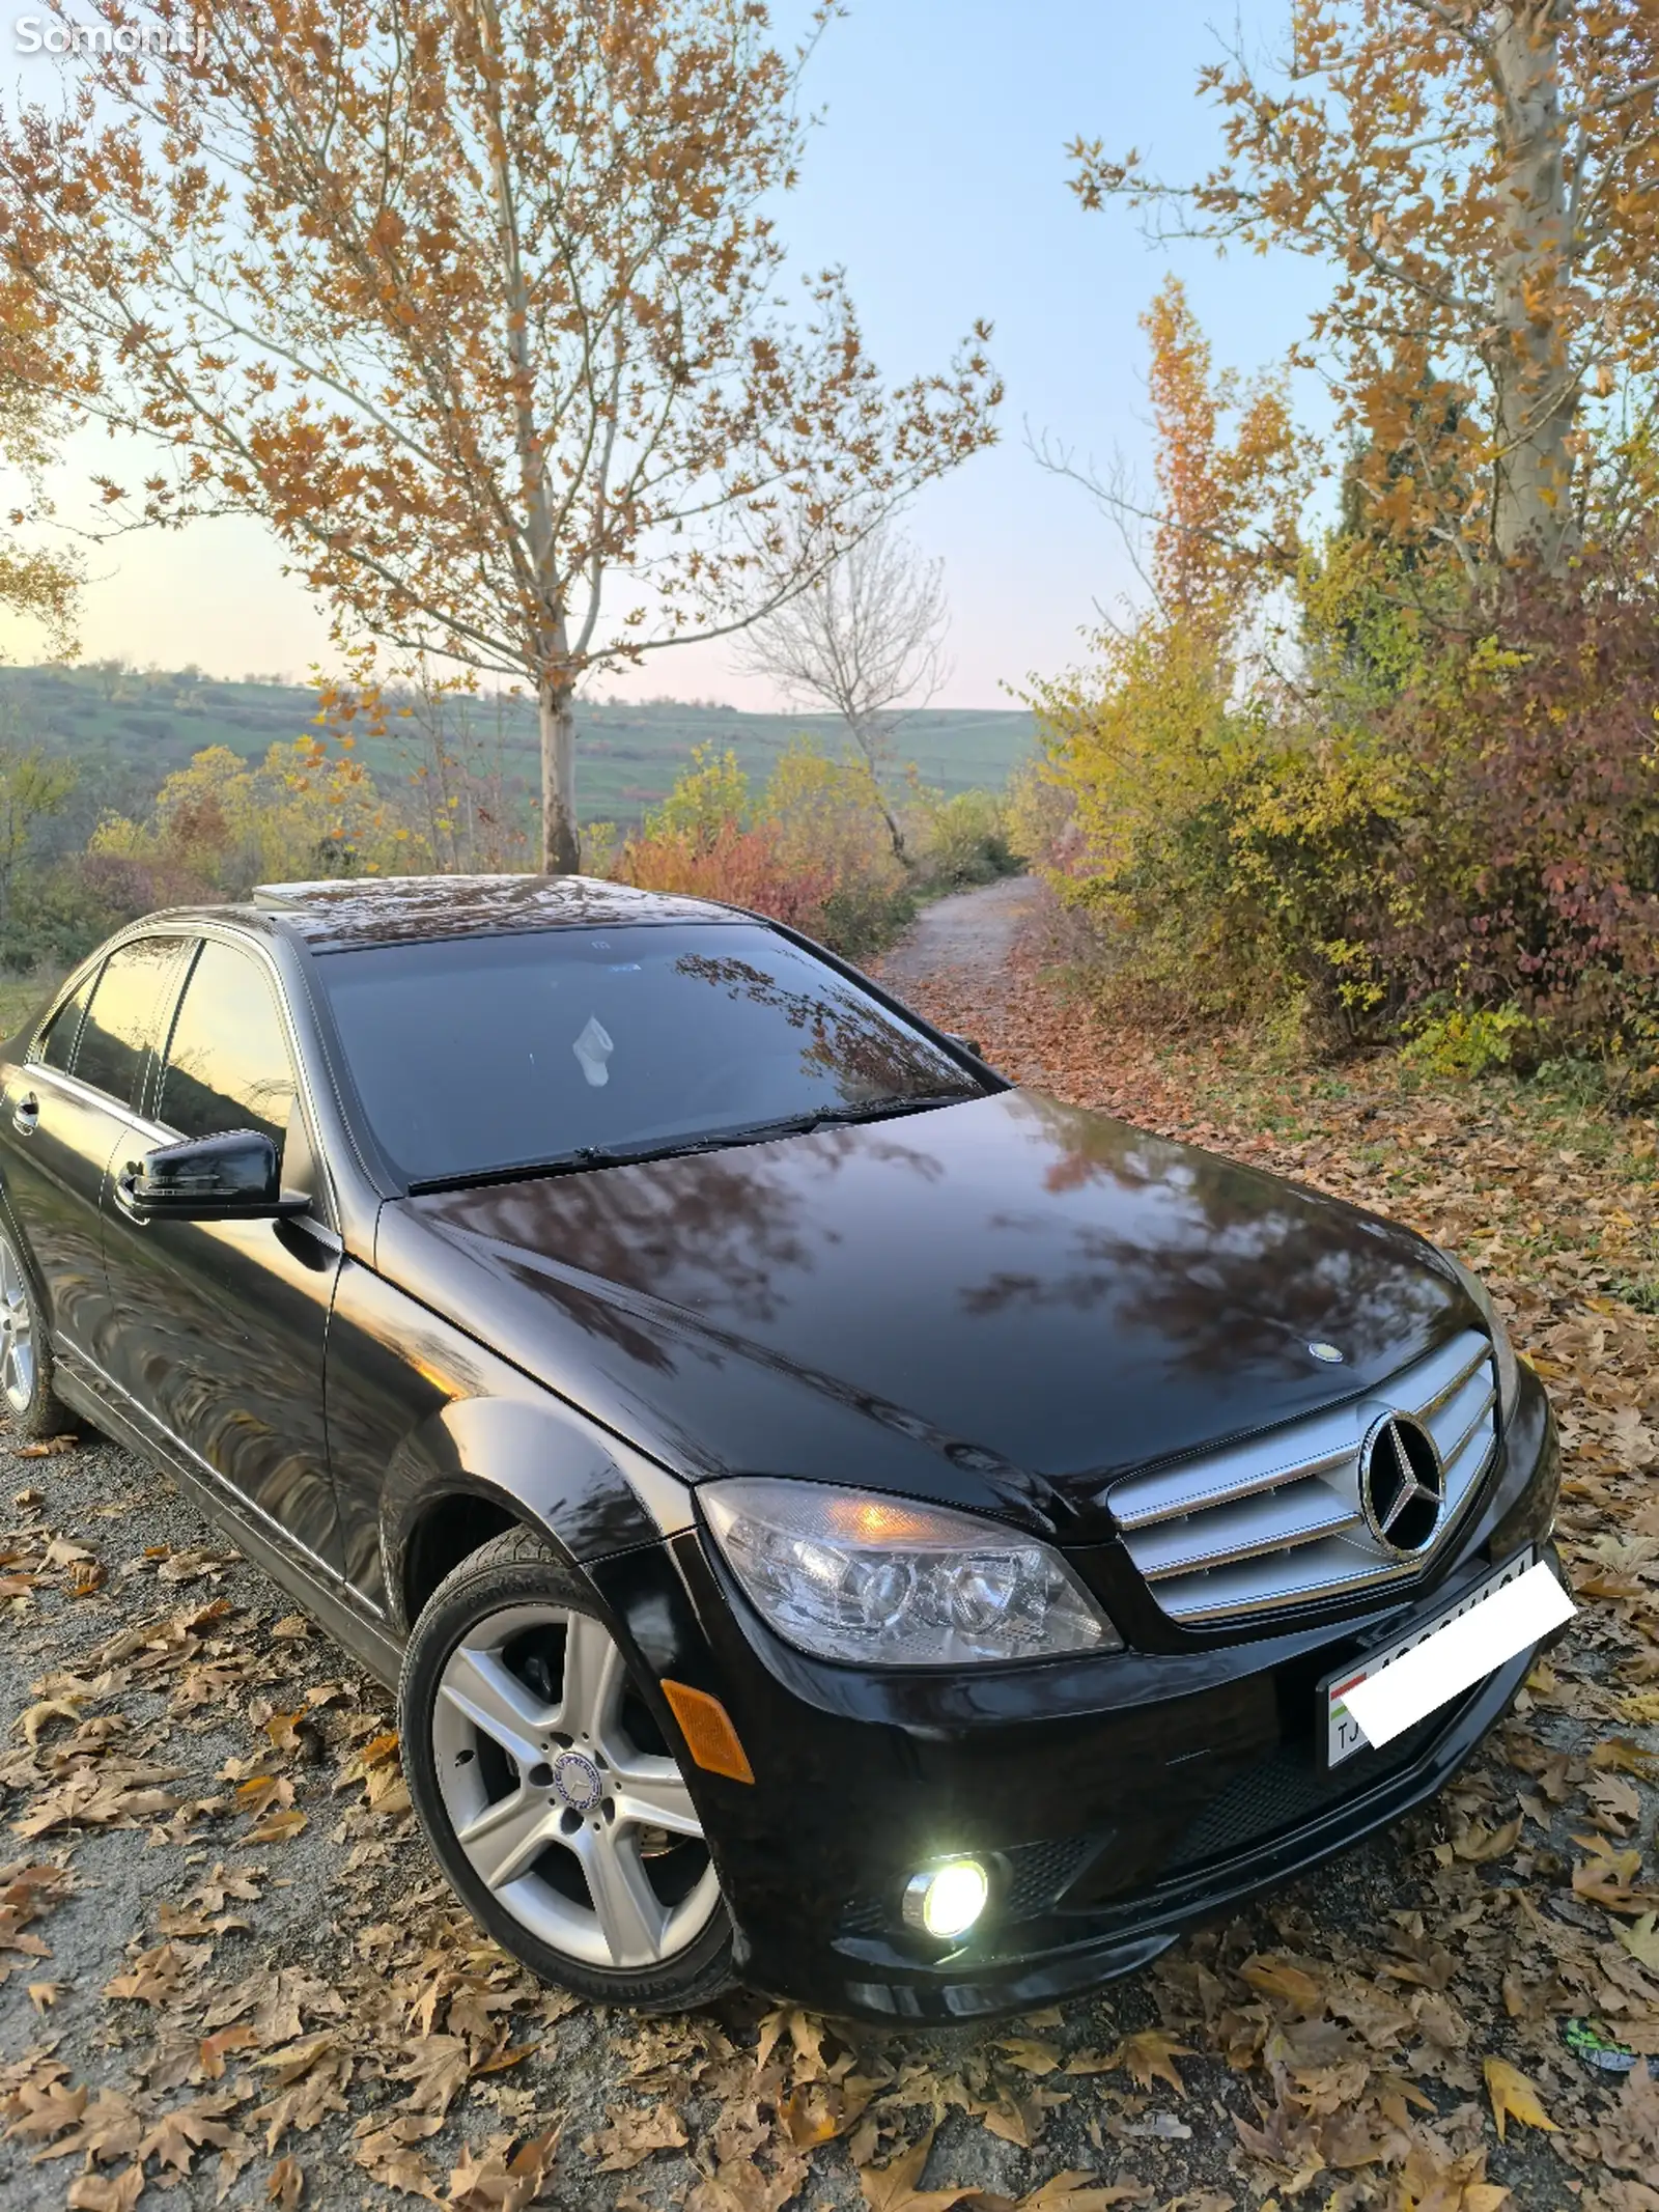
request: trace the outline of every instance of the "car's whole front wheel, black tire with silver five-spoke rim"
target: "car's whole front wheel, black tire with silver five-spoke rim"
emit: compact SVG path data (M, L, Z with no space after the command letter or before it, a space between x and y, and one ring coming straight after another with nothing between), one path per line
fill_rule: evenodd
M509 1528L434 1590L398 1725L438 1865L531 1973L641 2013L732 1986L732 1922L679 1761L591 1588L540 1537Z

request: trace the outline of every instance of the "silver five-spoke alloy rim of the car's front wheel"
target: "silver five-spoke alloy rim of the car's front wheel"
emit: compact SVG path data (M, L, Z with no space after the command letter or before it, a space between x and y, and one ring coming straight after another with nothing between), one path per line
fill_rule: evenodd
M611 1632L504 1606L449 1652L431 1710L438 1790L473 1874L588 1966L659 1966L708 1927L719 1878L679 1763Z

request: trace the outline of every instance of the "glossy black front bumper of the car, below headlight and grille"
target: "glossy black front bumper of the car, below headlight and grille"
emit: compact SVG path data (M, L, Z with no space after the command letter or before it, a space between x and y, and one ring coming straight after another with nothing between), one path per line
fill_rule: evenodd
M611 1597L624 1619L655 1619L641 1644L659 1644L657 1672L692 1672L726 1701L754 1765L752 1787L695 1778L745 1980L867 2020L984 2020L1126 1973L1433 1796L1504 1714L1528 1655L1332 1774L1316 1686L1544 1544L1557 1482L1548 1405L1524 1371L1475 1513L1409 1597L984 1674L810 1661L730 1597L695 1535L672 1546L670 1641L686 1648L670 1666L639 1555L615 1562ZM958 1851L998 1880L971 1938L947 1947L905 1929L900 1898L918 1865Z

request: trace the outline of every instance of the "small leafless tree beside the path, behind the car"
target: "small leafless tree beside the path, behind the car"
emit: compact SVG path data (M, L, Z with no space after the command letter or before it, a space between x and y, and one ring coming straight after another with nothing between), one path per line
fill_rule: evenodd
M905 858L905 834L885 783L907 712L945 679L945 564L922 560L883 526L852 546L810 591L759 622L743 664L768 677L790 706L838 717L880 805L887 836Z

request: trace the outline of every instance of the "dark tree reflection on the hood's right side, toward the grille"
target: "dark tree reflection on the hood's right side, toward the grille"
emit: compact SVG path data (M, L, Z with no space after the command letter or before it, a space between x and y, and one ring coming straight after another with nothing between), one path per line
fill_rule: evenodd
M1068 1252L1055 1259L1053 1214L1044 1212L1042 1265L998 1267L962 1290L969 1314L1011 1307L1110 1307L1144 1327L1161 1358L1179 1367L1214 1360L1276 1360L1287 1343L1340 1329L1356 1367L1378 1360L1411 1323L1444 1298L1413 1265L1400 1230L1113 1121L1106 1115L1029 1099L1060 1157L1044 1175L1053 1192L1108 1183L1135 1203L1135 1223L1079 1214ZM1146 1234L1155 1217L1157 1234ZM998 1214L1018 1234L1018 1212Z

